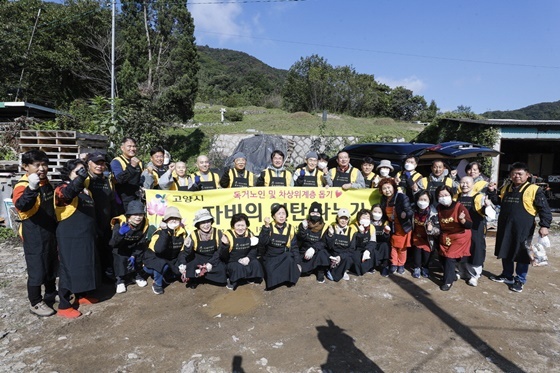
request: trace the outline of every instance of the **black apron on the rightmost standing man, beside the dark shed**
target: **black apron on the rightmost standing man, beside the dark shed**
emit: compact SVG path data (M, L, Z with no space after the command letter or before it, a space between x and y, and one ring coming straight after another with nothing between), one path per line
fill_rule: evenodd
M502 198L494 251L498 259L531 263L525 242L530 243L533 238L535 217L523 207L523 193L529 185L525 183L517 191L510 185Z

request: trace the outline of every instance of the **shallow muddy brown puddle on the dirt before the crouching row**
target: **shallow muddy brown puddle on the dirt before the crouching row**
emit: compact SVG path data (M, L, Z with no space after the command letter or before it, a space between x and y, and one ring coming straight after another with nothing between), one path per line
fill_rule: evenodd
M263 291L260 287L240 286L235 291L228 291L212 298L202 311L210 317L216 315L235 316L254 310L263 304Z

